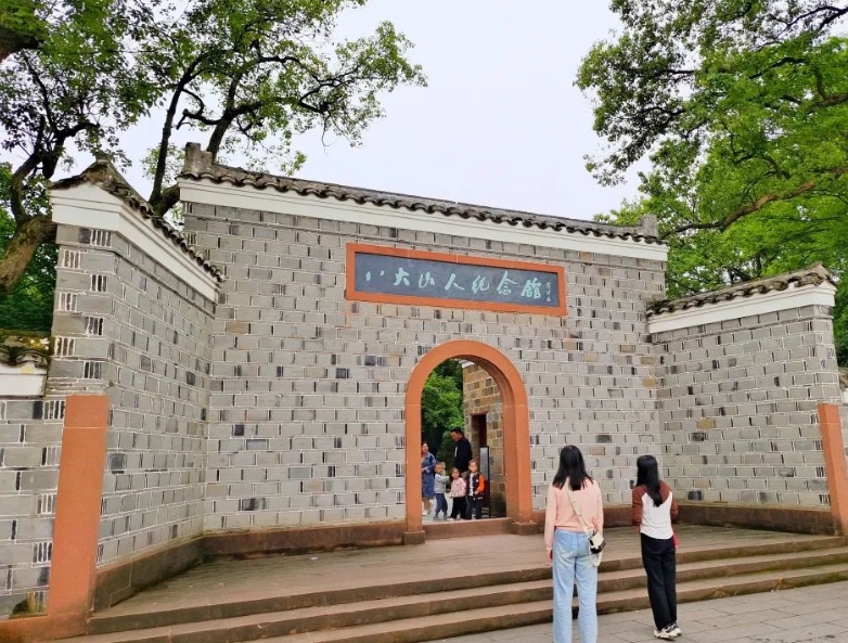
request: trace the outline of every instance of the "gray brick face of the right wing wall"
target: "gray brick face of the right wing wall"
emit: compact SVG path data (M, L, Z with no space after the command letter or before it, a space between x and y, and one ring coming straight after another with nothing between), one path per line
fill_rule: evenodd
M653 337L663 465L679 496L830 503L815 408L839 403L831 314L809 306Z

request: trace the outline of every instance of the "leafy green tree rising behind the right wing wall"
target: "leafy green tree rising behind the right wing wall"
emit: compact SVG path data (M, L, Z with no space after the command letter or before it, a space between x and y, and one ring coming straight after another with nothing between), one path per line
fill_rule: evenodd
M588 168L615 183L650 158L642 197L607 218L657 216L671 246L668 294L817 260L844 274L848 3L614 0L612 8L622 29L591 49L577 78L606 141Z

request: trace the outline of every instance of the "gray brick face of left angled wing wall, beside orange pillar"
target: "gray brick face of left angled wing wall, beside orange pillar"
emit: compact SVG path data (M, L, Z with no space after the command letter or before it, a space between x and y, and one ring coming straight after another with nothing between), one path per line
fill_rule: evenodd
M63 226L59 244L48 387L110 399L106 565L203 529L215 304L117 234Z

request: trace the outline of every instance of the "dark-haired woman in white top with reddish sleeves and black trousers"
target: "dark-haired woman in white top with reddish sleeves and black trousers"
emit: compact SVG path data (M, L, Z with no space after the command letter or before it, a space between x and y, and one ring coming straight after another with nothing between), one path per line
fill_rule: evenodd
M678 504L671 488L659 479L656 458L637 460L637 486L633 489L633 525L642 540L642 565L647 575L647 597L654 613L654 636L677 639L678 627L674 531Z

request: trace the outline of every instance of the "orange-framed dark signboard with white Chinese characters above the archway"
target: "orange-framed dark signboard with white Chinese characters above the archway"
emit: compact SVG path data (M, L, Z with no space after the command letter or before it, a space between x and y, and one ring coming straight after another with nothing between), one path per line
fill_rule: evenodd
M390 295L410 301L426 298L494 304L510 309L544 308L551 312L563 307L563 275L556 267L410 250L390 254L394 249L364 246L349 255L357 294Z

